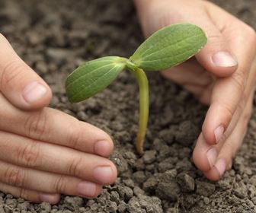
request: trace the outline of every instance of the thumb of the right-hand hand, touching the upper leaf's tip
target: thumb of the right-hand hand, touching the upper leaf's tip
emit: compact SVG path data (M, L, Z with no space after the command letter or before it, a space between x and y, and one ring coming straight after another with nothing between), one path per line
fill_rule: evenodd
M208 72L217 77L232 75L238 68L238 60L229 48L229 43L219 29L210 21L202 27L207 34L206 46L197 53L196 58Z

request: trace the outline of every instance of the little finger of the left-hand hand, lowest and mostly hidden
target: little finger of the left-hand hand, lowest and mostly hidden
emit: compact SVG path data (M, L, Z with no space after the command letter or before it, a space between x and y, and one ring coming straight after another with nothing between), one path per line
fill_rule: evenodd
M11 186L1 182L0 190L2 192L5 192L5 194L11 194L14 197L23 198L31 202L49 202L50 204L56 204L60 200L59 194L46 194L30 189L23 189L20 187Z

